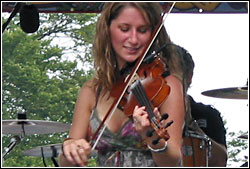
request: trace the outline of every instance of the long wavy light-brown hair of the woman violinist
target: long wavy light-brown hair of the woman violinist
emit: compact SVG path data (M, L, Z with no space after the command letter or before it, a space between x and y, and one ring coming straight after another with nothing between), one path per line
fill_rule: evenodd
M149 21L152 32L158 24L162 10L159 3L155 2L111 2L105 3L101 16L96 25L96 36L93 44L94 68L95 68L95 87L101 86L105 93L111 90L120 79L119 68L115 51L111 44L109 27L111 21L120 14L121 10L127 6L137 8L143 14L144 18ZM158 49L160 46L171 43L170 38L165 29L162 28L157 39L155 40L151 51ZM163 50L166 60L170 61L170 48ZM178 63L178 61L170 61L170 65ZM169 66L171 68L171 66ZM173 66L172 66L173 67Z

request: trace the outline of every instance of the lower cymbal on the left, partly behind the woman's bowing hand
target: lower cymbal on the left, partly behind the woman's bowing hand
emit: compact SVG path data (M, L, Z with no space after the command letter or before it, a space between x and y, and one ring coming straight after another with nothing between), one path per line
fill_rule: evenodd
M26 151L22 154L26 156L36 156L36 157L58 157L62 152L62 144L50 144L45 146L38 146Z

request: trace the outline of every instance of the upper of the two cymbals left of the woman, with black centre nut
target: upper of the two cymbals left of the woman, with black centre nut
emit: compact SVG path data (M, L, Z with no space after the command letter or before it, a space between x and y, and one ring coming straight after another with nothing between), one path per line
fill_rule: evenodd
M2 120L2 134L49 134L69 131L70 124L43 120Z

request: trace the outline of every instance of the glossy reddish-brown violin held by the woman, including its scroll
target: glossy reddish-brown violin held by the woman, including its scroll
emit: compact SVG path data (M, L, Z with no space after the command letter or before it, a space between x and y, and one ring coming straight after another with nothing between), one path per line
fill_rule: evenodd
M161 138L165 141L169 139L166 128L173 123L170 122L167 126L161 126L160 122L168 118L168 115L164 114L161 119L158 119L153 112L153 108L160 107L170 93L170 87L165 80L168 75L166 65L160 57L154 58L152 63L143 63L118 106L127 116L133 115L136 105L146 107L150 124L154 129L147 132L147 136L151 137L153 132L156 132L159 136L157 140L153 141L153 144L157 144ZM122 78L112 89L110 93L112 97L119 95L124 79L126 78Z

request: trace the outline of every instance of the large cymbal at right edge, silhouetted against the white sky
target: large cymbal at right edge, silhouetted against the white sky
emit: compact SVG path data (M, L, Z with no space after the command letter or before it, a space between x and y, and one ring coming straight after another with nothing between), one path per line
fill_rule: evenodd
M204 91L201 94L224 99L248 99L248 87L231 87Z

